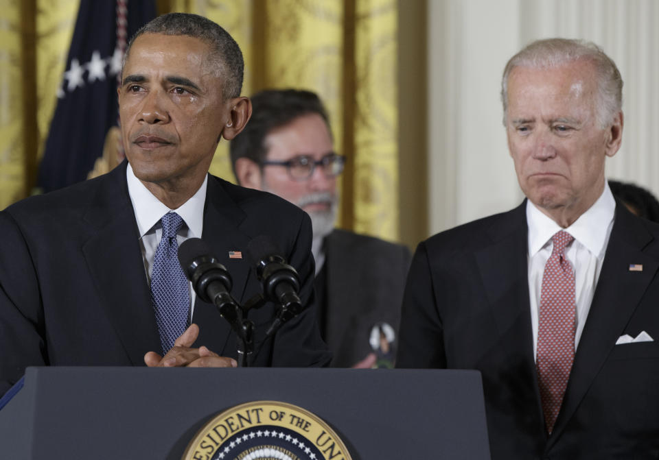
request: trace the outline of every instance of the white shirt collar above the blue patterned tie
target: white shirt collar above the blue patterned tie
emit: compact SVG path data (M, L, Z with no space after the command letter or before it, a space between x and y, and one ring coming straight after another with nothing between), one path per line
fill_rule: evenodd
M128 195L132 208L135 210L135 219L139 229L139 237L143 237L154 225L170 211L176 211L181 216L188 228L188 237L201 237L204 224L204 204L206 201L206 187L208 184L208 174L204 178L203 184L199 187L194 195L187 202L178 206L176 209L170 209L155 197L149 189L135 176L130 163L126 168L126 180L128 181Z

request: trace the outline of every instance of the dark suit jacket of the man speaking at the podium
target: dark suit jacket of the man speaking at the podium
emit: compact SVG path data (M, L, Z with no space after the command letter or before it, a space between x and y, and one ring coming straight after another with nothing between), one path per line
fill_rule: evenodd
M311 224L296 206L209 176L203 239L233 277L234 298L260 291L248 242L267 234L299 272L308 308L286 324L256 365L325 365L313 298ZM32 197L0 213L0 394L30 365L143 365L159 333L126 185L126 163L100 178ZM242 251L230 259L229 251ZM255 341L275 306L251 311ZM235 335L199 298L197 345L235 357Z

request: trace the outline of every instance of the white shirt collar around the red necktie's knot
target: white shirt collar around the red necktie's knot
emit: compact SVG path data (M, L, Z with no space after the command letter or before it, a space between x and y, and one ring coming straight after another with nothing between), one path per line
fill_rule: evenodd
M551 217L531 203L530 199L527 199L529 256L540 251L556 232L565 230L591 254L602 260L606 250L608 228L613 221L615 211L616 200L608 182L597 201L568 228L561 228Z

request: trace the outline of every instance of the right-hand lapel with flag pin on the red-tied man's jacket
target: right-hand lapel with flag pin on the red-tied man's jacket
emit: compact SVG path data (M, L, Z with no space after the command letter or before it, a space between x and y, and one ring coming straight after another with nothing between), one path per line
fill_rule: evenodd
M659 264L643 252L652 239L640 220L625 206L616 203L614 226L597 288L579 340L563 407L548 447L574 415L654 278ZM629 271L630 264L643 265L643 271Z

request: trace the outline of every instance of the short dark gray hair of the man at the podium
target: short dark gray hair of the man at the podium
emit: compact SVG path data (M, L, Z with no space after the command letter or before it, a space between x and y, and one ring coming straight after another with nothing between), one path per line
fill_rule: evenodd
M211 48L210 58L216 67L216 74L222 78L222 98L226 100L240 96L244 72L242 51L229 32L220 25L198 14L170 13L158 16L130 38L124 54L122 75L130 47L135 43L135 38L142 34L185 35L207 43Z

